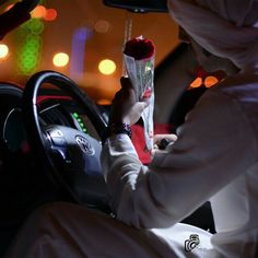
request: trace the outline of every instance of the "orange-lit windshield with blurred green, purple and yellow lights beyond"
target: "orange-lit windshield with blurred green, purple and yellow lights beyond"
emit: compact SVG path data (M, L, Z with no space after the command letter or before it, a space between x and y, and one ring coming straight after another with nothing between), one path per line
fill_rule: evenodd
M5 1L1 13L13 3ZM36 71L55 70L73 79L99 104L110 103L119 89L125 37L151 38L156 67L178 44L177 26L168 13L132 13L101 0L42 0L31 14L0 43L9 49L0 61L0 80L24 84ZM101 72L102 60L114 61L114 71L108 66Z

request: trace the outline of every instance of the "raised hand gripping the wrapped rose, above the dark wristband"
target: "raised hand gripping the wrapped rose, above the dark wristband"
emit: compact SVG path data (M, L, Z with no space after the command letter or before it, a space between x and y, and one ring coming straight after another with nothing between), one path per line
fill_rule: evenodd
M121 78L121 90L116 93L112 104L109 124L136 124L148 106L148 102L138 102L129 78Z

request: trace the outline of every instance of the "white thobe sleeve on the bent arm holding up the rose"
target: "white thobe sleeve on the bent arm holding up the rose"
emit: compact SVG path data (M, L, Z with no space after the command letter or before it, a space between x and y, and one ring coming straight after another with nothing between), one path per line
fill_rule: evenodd
M136 227L183 220L237 175L257 152L241 106L209 91L188 115L169 150L144 166L125 134L109 138L102 164L117 218Z

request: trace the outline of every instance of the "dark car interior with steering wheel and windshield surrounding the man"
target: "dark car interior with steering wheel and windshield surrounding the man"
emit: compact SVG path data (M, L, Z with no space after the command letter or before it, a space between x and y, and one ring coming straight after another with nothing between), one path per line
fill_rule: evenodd
M45 203L68 201L113 214L101 139L120 87L125 40L142 35L156 46L155 133L176 133L220 80L178 40L165 0L25 0L26 21L15 20L16 3L0 1L0 256ZM109 64L102 68L102 61ZM132 142L148 165L141 120ZM215 231L209 202L183 222Z

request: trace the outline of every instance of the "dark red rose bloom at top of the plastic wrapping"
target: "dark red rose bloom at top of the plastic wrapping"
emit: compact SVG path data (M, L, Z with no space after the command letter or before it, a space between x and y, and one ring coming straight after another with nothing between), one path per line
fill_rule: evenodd
M136 60L150 58L155 52L155 45L150 39L133 38L128 40L124 54L133 57Z

